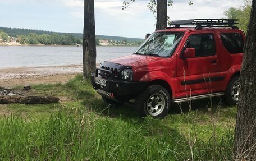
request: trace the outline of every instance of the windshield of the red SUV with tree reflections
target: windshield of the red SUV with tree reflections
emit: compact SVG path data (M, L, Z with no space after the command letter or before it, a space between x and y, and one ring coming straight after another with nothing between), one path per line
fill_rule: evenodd
M184 33L181 32L153 33L143 44L141 44L134 54L171 57L179 45L183 35Z

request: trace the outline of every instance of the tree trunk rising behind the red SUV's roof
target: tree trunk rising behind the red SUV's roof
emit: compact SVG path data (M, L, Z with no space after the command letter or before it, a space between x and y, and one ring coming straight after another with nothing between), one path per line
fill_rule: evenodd
M157 0L156 31L167 27L167 0Z

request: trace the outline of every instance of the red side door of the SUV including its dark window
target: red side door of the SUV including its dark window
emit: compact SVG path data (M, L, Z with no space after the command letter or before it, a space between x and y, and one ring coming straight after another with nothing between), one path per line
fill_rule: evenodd
M179 97L212 93L223 81L218 62L217 35L214 32L189 33L184 49L177 57ZM195 48L195 57L182 59L186 48Z

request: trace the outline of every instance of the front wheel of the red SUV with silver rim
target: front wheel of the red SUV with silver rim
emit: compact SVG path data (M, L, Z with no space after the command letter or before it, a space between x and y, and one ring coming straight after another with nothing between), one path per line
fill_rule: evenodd
M148 86L135 101L135 112L139 117L150 115L164 118L170 108L170 94L160 85Z

